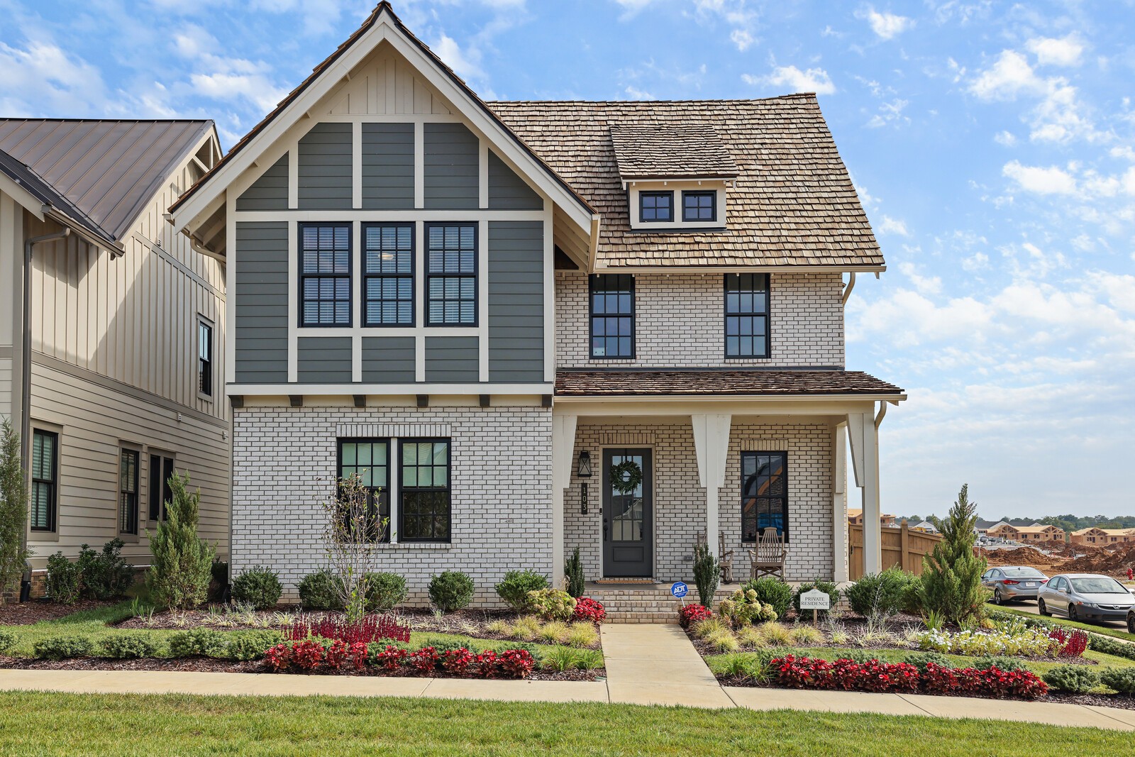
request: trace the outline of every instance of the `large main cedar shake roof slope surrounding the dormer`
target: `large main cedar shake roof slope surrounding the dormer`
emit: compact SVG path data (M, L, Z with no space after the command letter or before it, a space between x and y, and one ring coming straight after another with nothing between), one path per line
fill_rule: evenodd
M488 104L600 213L597 269L884 266L814 94ZM612 135L705 125L738 168L725 193L726 228L632 232Z

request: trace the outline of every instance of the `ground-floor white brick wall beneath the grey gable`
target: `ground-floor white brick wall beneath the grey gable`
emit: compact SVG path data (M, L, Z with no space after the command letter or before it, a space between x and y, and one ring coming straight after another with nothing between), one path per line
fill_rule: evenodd
M232 574L267 565L285 600L323 564L323 515L339 436L448 436L452 544L381 545L378 570L428 604L431 574L461 570L474 604L499 602L512 569L552 573L552 411L541 407L245 407L234 412ZM394 454L392 452L392 459Z

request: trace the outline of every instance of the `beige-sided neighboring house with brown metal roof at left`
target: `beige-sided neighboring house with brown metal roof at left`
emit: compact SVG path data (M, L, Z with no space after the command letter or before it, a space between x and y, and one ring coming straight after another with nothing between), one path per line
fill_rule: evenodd
M115 537L148 564L175 470L227 555L225 268L162 218L219 159L208 120L0 119L0 415L28 436L34 569Z

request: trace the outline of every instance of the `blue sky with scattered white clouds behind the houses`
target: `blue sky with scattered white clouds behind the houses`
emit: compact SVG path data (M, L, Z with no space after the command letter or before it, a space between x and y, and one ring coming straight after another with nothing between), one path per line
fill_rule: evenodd
M0 113L243 135L372 8L0 0ZM848 367L908 389L883 505L1130 514L1135 3L401 0L486 99L815 91L888 259Z

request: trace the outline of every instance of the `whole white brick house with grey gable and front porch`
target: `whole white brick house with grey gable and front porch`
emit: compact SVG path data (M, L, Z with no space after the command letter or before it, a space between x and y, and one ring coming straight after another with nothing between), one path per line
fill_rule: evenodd
M843 304L884 262L813 95L486 103L384 2L170 215L233 277L233 567L289 596L355 472L419 603L765 528L846 580L848 456L878 518L905 395L844 370Z

